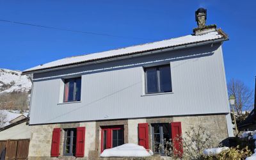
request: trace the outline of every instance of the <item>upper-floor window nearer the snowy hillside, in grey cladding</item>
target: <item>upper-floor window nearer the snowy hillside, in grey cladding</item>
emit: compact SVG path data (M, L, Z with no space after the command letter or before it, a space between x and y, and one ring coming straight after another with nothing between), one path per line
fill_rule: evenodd
M64 80L64 102L81 100L81 77Z

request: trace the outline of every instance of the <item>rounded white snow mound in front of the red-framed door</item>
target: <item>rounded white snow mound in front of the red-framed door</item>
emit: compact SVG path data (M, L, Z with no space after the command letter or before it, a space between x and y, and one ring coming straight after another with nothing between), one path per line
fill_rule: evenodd
M148 157L152 156L151 150L147 151L140 145L126 143L115 148L106 149L100 154L100 157Z

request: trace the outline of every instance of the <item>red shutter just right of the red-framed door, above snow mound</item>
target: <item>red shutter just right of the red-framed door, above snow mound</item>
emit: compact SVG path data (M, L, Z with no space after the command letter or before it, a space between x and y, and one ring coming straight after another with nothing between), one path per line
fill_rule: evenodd
M148 149L148 124L139 124L139 145L143 146L144 148Z

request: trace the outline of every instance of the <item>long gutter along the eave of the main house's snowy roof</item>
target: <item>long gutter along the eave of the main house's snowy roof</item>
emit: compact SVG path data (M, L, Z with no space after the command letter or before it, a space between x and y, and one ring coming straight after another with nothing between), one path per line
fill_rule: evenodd
M218 43L218 42L223 42L225 40L228 40L227 36L223 36L222 38L217 38L217 39L214 39L214 40L207 40L207 41L201 41L201 42L196 42L196 43L193 42L193 43L188 43L188 44L175 45L175 46L172 46L172 47L163 47L163 48L151 49L151 50L147 50L147 51L131 52L131 53L127 53L127 54L120 54L120 55L117 55L117 56L109 56L109 57L106 57L106 58L98 58L98 59L93 59L93 60L80 61L80 62L77 62L77 63L70 63L70 64L66 64L66 65L59 65L59 66L56 66L56 67L48 67L48 68L30 70L30 71L22 72L22 75L38 74L38 73L49 72L49 71L53 71L53 70L79 67L79 66L83 66L83 65L91 65L91 64L95 64L95 63L103 63L103 62L106 62L106 61L123 60L125 58L145 56L145 55L148 55L148 54L155 54L155 53L158 53L158 52L175 51L177 49L185 49L185 48L189 48L189 47L196 47L196 46L211 44L211 43L214 44L214 43Z

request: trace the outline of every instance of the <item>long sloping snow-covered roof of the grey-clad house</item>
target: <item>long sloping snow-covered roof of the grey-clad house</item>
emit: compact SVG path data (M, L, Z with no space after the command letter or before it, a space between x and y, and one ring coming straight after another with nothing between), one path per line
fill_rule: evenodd
M29 68L24 70L22 74L31 74L33 72L39 70L47 70L51 68L60 68L69 65L77 65L81 63L88 63L91 61L98 61L98 60L106 60L110 58L115 58L119 56L128 56L130 54L140 54L142 52L150 52L156 51L160 49L167 49L170 47L176 47L180 45L188 45L188 44L196 44L199 42L207 42L211 40L227 40L228 37L218 29L218 31L211 31L209 33L205 33L203 35L187 35L187 36L180 36L179 38L172 38L168 40L162 40L158 42L152 42L148 44L142 45L134 45L131 47L125 47L121 49L115 49L111 51L104 51L104 52L97 52L93 54L85 54L83 56L73 56L70 58L63 58L61 60L52 61L50 63L45 63L44 65L38 65L33 68Z

